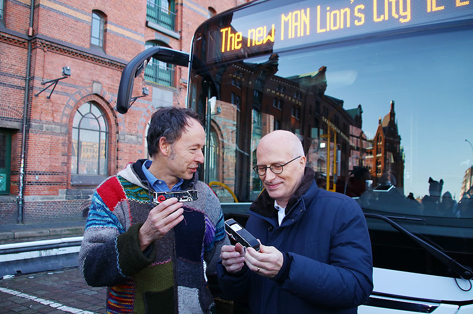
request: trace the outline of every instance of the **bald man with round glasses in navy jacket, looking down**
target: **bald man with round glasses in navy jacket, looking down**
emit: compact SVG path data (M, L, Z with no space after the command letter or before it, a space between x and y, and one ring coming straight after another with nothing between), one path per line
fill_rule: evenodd
M373 290L371 242L358 203L319 189L299 139L263 137L256 151L265 189L250 206L246 229L260 251L223 246L223 291L251 313L357 313Z

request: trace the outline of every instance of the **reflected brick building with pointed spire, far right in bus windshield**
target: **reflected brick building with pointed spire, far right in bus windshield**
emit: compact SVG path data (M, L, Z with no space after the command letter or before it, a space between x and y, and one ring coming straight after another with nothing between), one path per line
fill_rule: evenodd
M373 183L404 186L404 150L401 146L394 100L391 101L391 110L379 119L378 129L374 139L369 140L365 165L370 170Z

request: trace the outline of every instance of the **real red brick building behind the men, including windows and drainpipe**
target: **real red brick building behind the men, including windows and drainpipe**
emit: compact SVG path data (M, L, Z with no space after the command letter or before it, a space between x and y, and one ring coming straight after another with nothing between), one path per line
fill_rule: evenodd
M152 60L133 89L148 95L117 113L127 61L188 51L200 23L244 2L0 0L0 224L81 217L96 184L146 157L156 108L186 105L187 68Z

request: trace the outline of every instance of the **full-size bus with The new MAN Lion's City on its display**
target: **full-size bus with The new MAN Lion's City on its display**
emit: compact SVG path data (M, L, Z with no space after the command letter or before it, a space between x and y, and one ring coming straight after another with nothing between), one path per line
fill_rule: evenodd
M259 0L201 24L189 54L138 54L117 110L151 57L189 66L199 171L226 219L244 226L263 188L261 137L291 131L318 186L365 212L374 290L358 313L473 313L472 51L472 0Z

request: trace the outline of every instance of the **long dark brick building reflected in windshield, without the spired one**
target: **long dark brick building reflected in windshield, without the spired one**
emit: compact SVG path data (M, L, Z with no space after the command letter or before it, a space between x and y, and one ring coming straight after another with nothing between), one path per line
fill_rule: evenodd
M290 130L300 138L308 165L320 178L319 186L327 185L328 170L329 188L343 193L344 180L353 169L350 156L357 156L354 165L363 165L367 147L361 130L361 106L346 110L343 100L325 94L325 66L313 72L282 77L277 75L278 60L277 54L271 54L267 61L260 63L239 61L210 69L216 89L225 90L215 105L215 108L220 107L220 113L212 111L210 181L225 184L240 201L255 199L263 188L261 180L251 167L240 164L256 165L256 147L264 135L273 130ZM203 99L195 100L198 112L204 111L204 103ZM352 127L358 130L358 142L349 133L354 130ZM238 169L237 176L235 169ZM221 188L216 189L221 201L232 201L231 195L224 194Z

